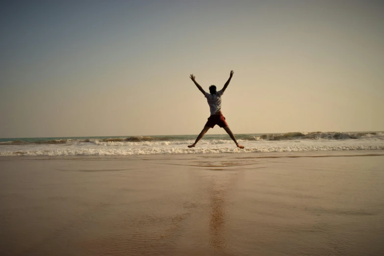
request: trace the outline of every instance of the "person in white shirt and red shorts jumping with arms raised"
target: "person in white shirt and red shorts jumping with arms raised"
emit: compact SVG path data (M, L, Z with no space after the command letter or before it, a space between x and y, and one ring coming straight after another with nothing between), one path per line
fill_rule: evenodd
M203 138L204 134L209 130L209 128L213 128L215 125L218 125L220 128L224 128L225 131L230 135L230 138L236 143L236 146L240 149L244 149L244 146L241 146L237 143L236 138L234 137L232 131L230 130L227 122L225 121L225 117L223 116L223 112L221 111L221 96L223 95L224 91L227 89L228 85L230 84L230 79L233 76L233 70L230 71L230 78L228 81L224 84L223 89L216 92L216 86L211 85L209 86L209 93L205 92L203 88L198 84L195 80L195 76L191 74L189 78L192 79L192 81L196 84L197 88L204 94L208 105L209 110L211 112L211 116L208 117L208 121L206 122L203 130L200 132L199 136L197 136L197 139L195 143L192 145L189 145L188 148L193 148L196 146L196 143Z

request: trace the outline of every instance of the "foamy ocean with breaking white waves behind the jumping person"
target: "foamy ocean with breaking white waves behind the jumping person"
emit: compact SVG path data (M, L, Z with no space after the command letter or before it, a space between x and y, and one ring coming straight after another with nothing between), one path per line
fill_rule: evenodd
M137 155L262 153L297 151L384 150L384 131L288 132L205 135L188 148L197 135L1 138L0 156L20 155Z

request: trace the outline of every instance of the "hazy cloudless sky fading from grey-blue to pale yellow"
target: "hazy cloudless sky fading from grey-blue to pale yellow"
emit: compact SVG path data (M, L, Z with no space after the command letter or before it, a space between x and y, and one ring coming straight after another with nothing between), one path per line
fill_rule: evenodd
M0 137L384 130L381 0L0 2ZM208 133L225 133L218 127Z

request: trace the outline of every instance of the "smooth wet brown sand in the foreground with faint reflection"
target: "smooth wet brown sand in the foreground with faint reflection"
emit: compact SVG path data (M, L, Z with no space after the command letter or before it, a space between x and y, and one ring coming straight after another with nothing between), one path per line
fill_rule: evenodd
M0 255L382 255L384 152L0 157Z

